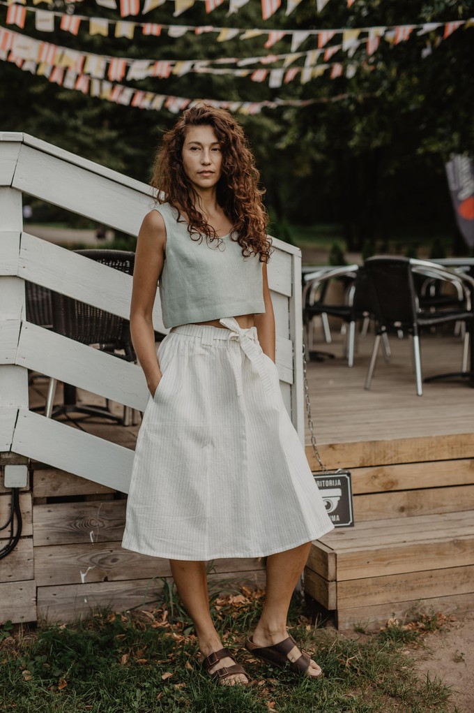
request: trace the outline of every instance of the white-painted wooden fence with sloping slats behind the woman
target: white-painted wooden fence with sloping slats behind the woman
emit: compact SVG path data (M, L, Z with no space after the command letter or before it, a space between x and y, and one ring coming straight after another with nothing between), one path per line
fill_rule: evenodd
M23 232L23 193L137 235L152 189L32 136L0 133L0 452L126 493L133 451L30 411L27 370L143 411L142 370L27 322L24 280L128 319L132 277ZM273 245L268 279L280 384L304 442L300 250L276 239ZM158 292L153 322L167 333Z

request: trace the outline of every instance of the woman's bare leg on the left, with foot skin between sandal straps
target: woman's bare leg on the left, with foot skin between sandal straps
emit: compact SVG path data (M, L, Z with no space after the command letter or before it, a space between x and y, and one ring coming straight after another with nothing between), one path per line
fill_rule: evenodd
M185 560L169 560L169 563L181 602L194 622L201 654L209 656L212 652L222 649L223 645L209 611L206 563ZM234 663L236 662L231 658L223 658L211 667L209 672L213 673L223 666L232 666ZM225 682L233 684L236 682L246 683L247 681L247 677L243 674L234 674L228 677Z

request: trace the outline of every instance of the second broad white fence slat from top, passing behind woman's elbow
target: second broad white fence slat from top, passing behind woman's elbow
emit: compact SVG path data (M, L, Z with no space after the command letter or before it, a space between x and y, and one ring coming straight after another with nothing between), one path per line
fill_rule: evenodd
M106 312L130 318L132 276L27 232L21 234L19 275L54 292L92 304ZM154 302L153 326L167 334L159 290Z

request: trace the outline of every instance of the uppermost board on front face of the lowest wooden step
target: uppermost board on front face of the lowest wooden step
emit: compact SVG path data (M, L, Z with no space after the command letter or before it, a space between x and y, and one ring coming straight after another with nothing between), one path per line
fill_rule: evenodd
M474 534L337 553L337 582L380 575L463 567L474 562Z

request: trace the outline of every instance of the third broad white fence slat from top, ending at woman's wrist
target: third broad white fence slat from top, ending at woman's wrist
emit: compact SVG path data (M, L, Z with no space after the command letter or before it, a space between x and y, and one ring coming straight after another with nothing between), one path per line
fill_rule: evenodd
M137 364L23 322L16 364L144 411L149 390Z

